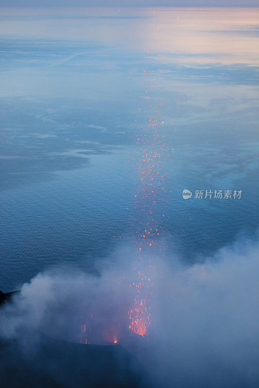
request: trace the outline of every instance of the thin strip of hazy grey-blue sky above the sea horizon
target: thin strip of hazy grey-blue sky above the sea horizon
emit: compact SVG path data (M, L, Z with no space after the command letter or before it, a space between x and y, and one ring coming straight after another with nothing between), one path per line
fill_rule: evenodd
M258 0L2 0L1 6L259 6Z

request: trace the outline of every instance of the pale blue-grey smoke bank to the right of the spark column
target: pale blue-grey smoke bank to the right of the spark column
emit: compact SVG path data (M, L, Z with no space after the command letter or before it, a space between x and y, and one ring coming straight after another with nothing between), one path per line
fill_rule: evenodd
M259 246L242 241L159 282L157 386L258 386L258 279Z

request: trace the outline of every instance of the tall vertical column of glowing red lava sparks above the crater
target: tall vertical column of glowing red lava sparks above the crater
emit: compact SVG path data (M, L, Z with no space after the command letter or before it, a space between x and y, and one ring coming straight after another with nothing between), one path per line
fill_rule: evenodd
M138 133L135 134L133 164L135 217L132 218L132 225L136 259L135 279L130 284L135 290L135 303L128 315L131 333L148 336L151 325L151 279L157 259L154 257L154 246L163 232L162 219L165 217L166 174L162 172L162 167L165 152L163 126L167 123L159 111L163 99L159 97L154 70L151 74L144 70L140 77L139 83L145 84L146 90L140 96L135 120ZM154 93L155 89L157 93Z

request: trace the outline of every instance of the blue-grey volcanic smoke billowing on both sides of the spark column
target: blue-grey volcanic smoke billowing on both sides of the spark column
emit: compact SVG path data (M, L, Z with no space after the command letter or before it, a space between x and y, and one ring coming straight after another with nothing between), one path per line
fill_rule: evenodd
M170 258L157 262L149 339L136 340L134 347L127 339L127 312L134 298L129 287L130 250L99 277L71 269L41 273L1 308L1 358L5 361L0 372L15 369L12 363L18 362L21 370L33 365L40 376L39 387L97 387L91 373L94 367L97 374L102 372L99 356L88 355L92 364L87 374L89 364L80 353L87 346L71 344L77 350L69 348L67 354L55 350L60 346L58 339L80 342L80 324L88 324L92 312L93 342L102 345L118 337L118 343L133 352L132 359L122 350L113 355L115 363L124 360L120 373L114 367L118 387L257 387L258 258L258 244L242 241L191 267L172 263ZM75 354L76 363L71 362ZM121 370L131 385L126 385Z

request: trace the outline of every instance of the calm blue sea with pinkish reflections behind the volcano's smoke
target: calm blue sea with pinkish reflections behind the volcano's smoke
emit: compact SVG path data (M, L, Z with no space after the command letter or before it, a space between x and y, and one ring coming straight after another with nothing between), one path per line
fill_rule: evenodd
M130 243L138 105L153 110L157 93L168 260L256 237L257 20L251 8L3 12L0 290L52 265L96 271Z

